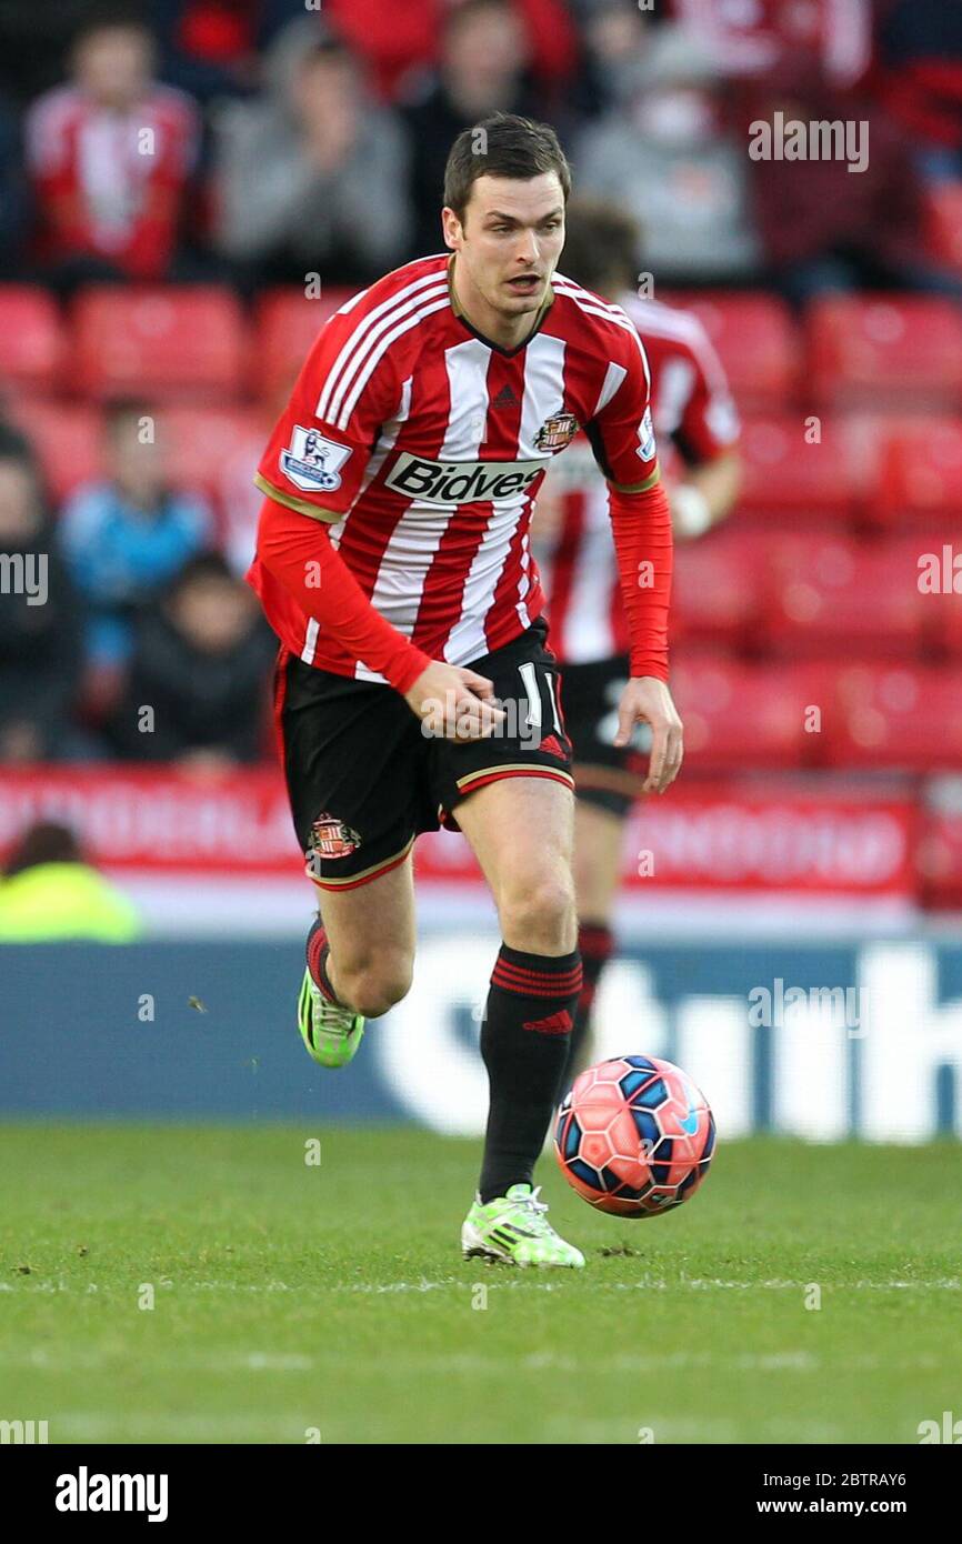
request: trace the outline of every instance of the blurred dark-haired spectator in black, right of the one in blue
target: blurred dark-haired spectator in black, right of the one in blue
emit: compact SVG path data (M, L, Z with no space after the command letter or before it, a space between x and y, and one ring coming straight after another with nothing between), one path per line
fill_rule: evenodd
M142 619L111 744L130 760L204 770L256 761L275 655L247 585L222 557L196 557Z

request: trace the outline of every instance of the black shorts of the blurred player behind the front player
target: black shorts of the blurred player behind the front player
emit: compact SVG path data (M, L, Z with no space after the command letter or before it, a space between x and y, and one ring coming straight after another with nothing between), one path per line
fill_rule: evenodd
M627 655L564 667L565 720L574 747L578 798L619 817L628 814L641 794L652 746L647 724L635 729L632 744L622 750L613 744L618 703L628 676Z

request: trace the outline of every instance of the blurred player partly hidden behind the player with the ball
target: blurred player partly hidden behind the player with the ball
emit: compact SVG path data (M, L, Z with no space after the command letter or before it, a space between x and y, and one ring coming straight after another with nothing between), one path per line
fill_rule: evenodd
M602 201L571 202L565 269L590 290L618 301L641 334L675 540L687 542L724 520L738 494L738 414L704 327L689 312L639 298L641 267L641 233L630 216ZM630 665L607 527L604 482L588 442L578 440L551 468L534 520L550 641L564 665L578 786L574 875L584 987L565 1079L590 1061L591 1005L613 950L624 826L635 800L652 786L644 729L628 744L616 743L618 703Z

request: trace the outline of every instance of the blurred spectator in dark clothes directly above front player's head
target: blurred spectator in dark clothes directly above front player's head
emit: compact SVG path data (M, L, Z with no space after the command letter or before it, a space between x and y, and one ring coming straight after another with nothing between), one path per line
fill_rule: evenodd
M528 42L511 0L463 0L445 22L437 77L405 108L411 130L414 256L443 252L445 167L452 142L489 113L536 114L525 96Z

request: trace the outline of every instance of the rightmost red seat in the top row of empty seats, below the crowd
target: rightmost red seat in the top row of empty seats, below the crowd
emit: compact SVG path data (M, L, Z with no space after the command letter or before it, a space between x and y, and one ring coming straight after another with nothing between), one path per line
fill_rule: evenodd
M900 411L962 400L962 320L951 300L928 295L837 296L808 312L811 380L829 408Z

